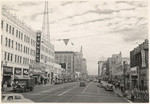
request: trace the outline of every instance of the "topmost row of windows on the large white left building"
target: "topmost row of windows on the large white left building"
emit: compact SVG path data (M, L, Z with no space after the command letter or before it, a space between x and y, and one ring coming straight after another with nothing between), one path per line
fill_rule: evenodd
M4 21L1 20L1 28L4 28ZM11 25L9 25L8 23L6 23L6 32L14 35L15 33L15 29L14 27L12 27ZM16 37L23 40L23 33L19 30L16 29ZM24 42L30 43L30 37L24 35ZM31 39L31 45L35 46L35 40Z

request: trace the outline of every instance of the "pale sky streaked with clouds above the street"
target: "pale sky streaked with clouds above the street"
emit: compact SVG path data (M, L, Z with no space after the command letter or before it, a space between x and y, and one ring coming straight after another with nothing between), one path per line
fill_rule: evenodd
M41 30L44 1L3 1L1 5L33 30ZM49 1L50 40L55 51L80 51L88 73L98 61L130 51L148 38L147 1ZM68 45L57 39L70 39ZM72 44L73 43L73 44Z

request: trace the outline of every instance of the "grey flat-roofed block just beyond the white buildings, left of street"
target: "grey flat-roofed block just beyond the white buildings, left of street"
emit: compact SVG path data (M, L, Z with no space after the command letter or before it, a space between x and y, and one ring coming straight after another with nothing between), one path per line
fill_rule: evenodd
M75 52L73 51L55 51L55 62L65 66L67 73L75 78Z

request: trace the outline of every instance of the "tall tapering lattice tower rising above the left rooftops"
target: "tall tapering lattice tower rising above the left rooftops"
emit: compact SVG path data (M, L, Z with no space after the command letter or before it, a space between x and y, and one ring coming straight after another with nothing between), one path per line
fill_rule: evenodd
M42 35L44 36L46 41L50 42L48 1L45 1Z

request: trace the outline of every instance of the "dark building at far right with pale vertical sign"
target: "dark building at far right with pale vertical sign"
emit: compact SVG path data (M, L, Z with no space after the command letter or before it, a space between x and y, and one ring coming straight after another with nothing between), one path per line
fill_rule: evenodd
M131 82L138 88L149 88L149 48L148 39L130 51Z

